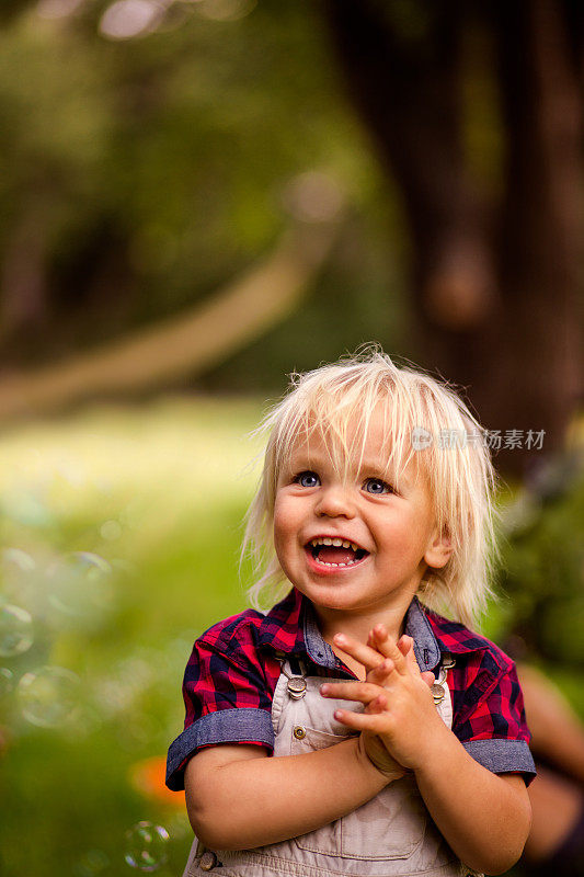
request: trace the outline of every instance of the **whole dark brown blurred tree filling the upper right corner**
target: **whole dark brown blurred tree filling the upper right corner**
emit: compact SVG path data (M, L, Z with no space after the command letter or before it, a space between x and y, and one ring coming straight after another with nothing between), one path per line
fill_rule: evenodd
M322 0L322 10L402 194L420 358L468 386L490 429L546 430L546 449L561 447L582 390L584 7ZM504 463L518 471L525 457L509 451Z

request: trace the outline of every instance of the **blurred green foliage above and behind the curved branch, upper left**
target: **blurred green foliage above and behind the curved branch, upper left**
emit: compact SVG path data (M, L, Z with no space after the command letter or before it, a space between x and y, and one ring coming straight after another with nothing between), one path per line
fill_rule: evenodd
M100 35L103 9L25 7L0 33L4 357L45 362L205 298L274 246L314 170L353 205L330 292L307 315L318 331L289 321L279 357L280 338L222 386L288 369L290 349L312 364L323 334L332 355L378 337L378 304L400 284L360 206L390 217L316 15L263 2L126 42Z

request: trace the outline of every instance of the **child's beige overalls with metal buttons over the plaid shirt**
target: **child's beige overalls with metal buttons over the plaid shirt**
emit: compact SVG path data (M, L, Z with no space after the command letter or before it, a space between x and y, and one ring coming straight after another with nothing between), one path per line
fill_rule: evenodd
M443 658L433 694L450 728L453 705L446 674L454 662L448 656ZM274 756L323 749L355 733L336 721L333 713L339 707L363 710L363 705L322 697L319 690L324 682L339 682L339 677L307 676L301 664L293 672L290 663L283 660L272 706ZM195 839L183 877L204 877L209 872L216 877L476 875L439 834L412 775L390 783L352 813L289 841L253 850L206 850Z

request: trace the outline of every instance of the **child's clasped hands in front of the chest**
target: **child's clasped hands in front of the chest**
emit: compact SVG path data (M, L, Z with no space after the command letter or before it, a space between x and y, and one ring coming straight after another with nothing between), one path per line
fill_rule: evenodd
M367 672L365 682L321 686L323 697L358 701L365 706L363 713L337 709L335 718L360 731L359 748L388 782L415 771L430 756L436 737L447 729L430 691L434 673L420 671L413 639L402 636L396 642L378 624L366 645L344 634L336 634L334 642Z

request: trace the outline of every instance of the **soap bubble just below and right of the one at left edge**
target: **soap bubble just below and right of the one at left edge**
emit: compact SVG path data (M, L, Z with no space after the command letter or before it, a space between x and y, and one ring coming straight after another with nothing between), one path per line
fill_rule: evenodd
M38 728L57 728L76 710L79 688L79 676L62 667L25 673L18 686L22 715Z

